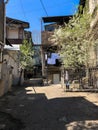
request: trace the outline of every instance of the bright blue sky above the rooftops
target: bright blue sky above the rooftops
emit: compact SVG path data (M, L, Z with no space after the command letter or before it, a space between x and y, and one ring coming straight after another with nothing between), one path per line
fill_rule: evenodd
M29 22L29 30L37 35L41 30L42 17L72 15L78 3L79 0L9 0L6 16Z

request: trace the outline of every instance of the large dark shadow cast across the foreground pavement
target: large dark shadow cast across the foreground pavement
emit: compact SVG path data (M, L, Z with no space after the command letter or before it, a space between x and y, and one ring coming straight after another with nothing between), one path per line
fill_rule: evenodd
M98 130L98 122L87 122L98 120L98 107L84 97L48 100L44 93L27 94L28 91L21 88L0 99L0 112L24 124L17 130ZM6 126L2 130L16 130L10 127L14 120L8 123L9 119L10 116L2 122L0 119L0 127Z

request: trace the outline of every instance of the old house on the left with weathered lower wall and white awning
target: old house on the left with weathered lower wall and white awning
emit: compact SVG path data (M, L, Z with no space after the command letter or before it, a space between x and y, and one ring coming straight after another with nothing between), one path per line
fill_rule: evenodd
M4 22L2 23L4 24ZM20 66L20 45L22 45L23 39L29 40L31 38L31 33L24 30L26 28L29 28L28 22L8 17L6 18L6 38L4 39L5 46L3 44L3 38L0 42L0 44L4 47L3 49L1 46L0 49L0 96L10 91L12 85L22 84L24 81ZM2 34L4 34L3 28L2 31ZM3 36L4 35L2 35L2 37Z

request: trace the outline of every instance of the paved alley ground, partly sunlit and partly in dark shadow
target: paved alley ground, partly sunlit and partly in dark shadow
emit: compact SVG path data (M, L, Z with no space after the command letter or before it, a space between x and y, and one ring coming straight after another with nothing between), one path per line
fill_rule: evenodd
M0 98L0 130L98 130L98 94L25 84Z

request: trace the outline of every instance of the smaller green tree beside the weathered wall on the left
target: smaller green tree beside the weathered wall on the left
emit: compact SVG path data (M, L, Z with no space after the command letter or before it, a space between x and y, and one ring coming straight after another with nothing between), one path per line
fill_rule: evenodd
M21 51L21 67L30 70L33 69L34 59L33 59L33 46L32 42L28 42L27 40L23 41L23 44L20 47Z

